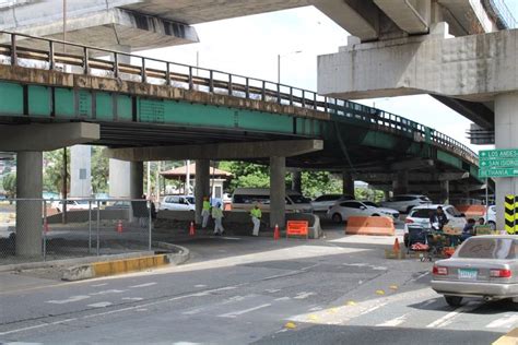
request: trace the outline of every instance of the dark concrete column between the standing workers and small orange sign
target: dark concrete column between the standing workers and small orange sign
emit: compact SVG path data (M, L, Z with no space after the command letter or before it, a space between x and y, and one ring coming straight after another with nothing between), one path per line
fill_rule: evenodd
M270 157L270 226L283 228L286 214L286 158Z

